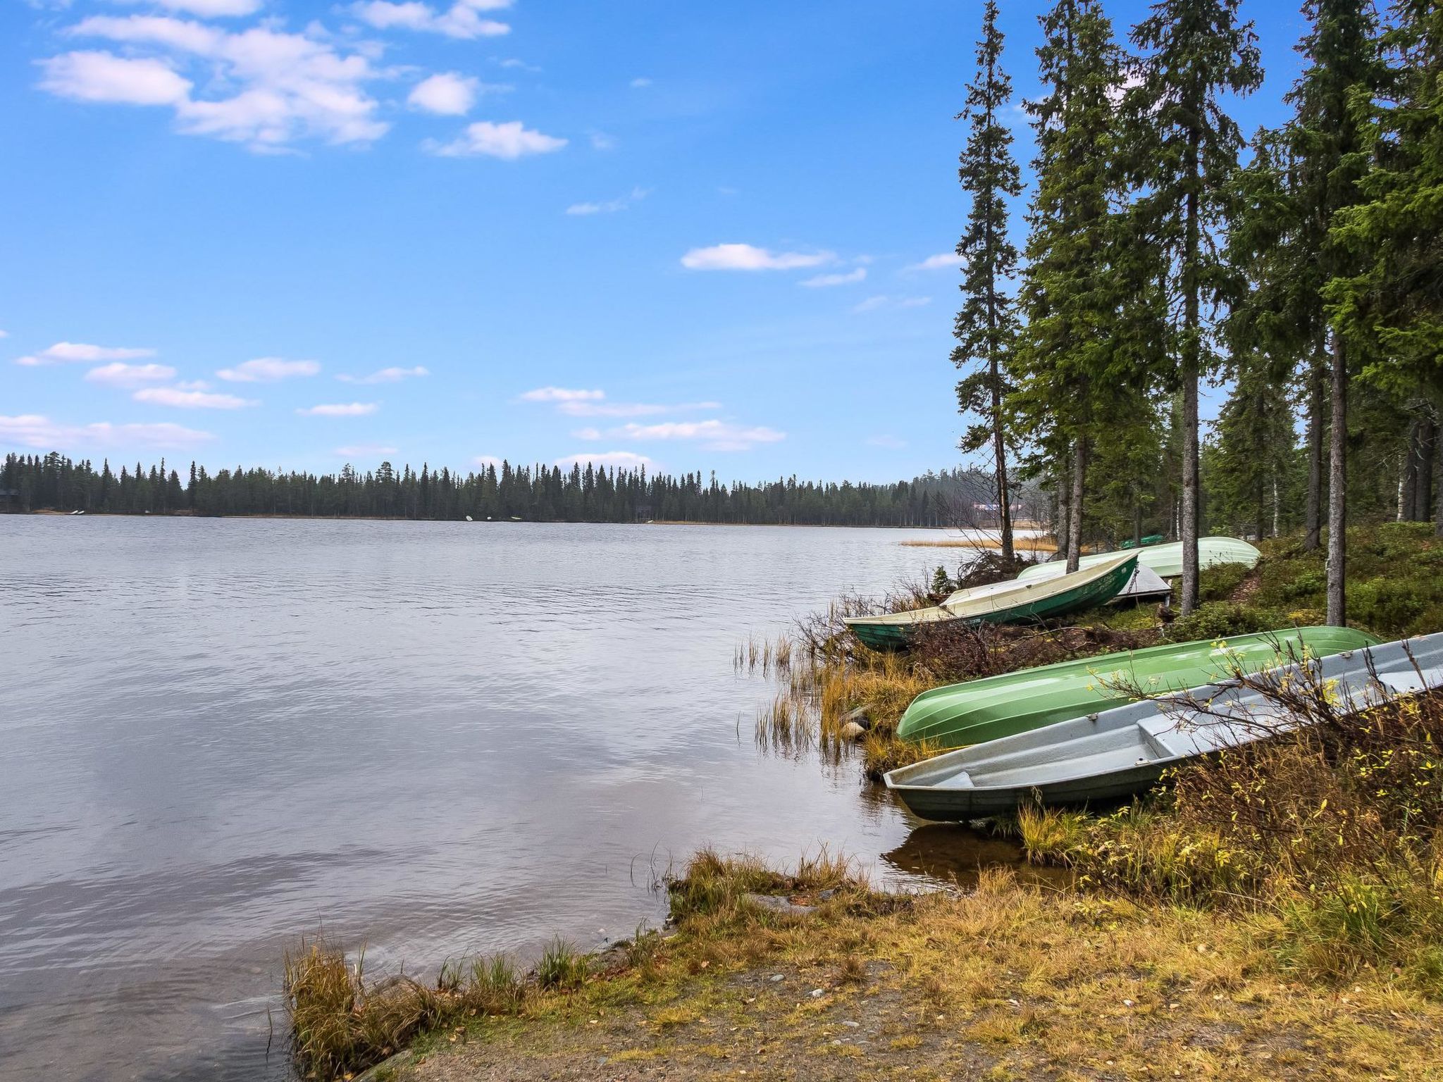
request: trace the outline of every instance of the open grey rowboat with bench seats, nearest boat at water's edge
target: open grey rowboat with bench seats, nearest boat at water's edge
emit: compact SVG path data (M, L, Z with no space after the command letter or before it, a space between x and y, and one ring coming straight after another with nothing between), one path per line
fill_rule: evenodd
M1329 681L1343 708L1443 687L1443 633L1267 669L1277 685L1303 667ZM1146 792L1169 767L1261 740L1297 724L1267 695L1237 681L1188 692L1206 701L1144 700L1071 721L947 752L886 775L887 789L924 819L965 821L1003 815L1019 805L1108 804Z

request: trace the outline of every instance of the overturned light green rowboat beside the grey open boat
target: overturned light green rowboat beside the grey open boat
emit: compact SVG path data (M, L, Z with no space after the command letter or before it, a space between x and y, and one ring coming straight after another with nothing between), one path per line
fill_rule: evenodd
M1004 672L924 691L902 714L898 736L941 747L978 744L1130 701L1102 687L1104 681L1179 691L1225 679L1235 668L1258 672L1302 659L1304 654L1326 658L1377 642L1349 628L1289 628L1225 642L1179 642Z

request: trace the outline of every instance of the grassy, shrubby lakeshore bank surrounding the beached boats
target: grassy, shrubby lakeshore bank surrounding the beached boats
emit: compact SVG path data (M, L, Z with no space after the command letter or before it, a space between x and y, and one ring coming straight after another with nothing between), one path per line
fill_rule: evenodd
M879 655L838 633L841 599L734 664L778 677L758 740L860 766L926 755L895 739L919 691L1163 639L1312 623L1322 554L1267 542L1208 573L1206 603L1104 609L1066 628L974 629ZM1384 638L1443 628L1443 542L1411 524L1349 534L1349 604ZM938 587L944 587L938 583ZM926 590L882 603L926 603ZM701 853L658 884L667 935L582 958L554 944L430 981L371 981L310 945L287 964L297 1062L424 1082L665 1076L1443 1079L1443 697L1358 717L1287 690L1315 724L1180 770L1105 817L1023 811L994 830L1071 870L1042 889L990 870L971 892L873 890L827 854L781 871Z

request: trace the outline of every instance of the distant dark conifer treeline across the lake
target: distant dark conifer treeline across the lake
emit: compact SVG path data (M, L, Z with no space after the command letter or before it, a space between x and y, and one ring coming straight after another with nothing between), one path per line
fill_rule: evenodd
M316 518L460 519L521 518L547 522L755 522L850 527L981 525L991 515L991 478L971 470L926 473L892 485L811 482L794 478L719 483L716 473L680 478L587 465L483 466L472 473L384 462L361 473L283 473L190 463L185 476L165 460L149 470L110 462L97 470L59 453L9 454L0 470L0 508L127 515L294 515ZM1026 499L1027 493L1017 493Z

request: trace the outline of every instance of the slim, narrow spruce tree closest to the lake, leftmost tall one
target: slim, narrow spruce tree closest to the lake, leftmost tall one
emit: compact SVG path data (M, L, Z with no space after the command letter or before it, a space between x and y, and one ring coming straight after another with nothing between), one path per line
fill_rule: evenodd
M975 452L991 444L1001 558L1010 564L1014 555L1003 398L1012 390L1007 362L1017 336L1017 316L1004 283L1017 273L1017 248L1007 239L1007 199L1022 193L1022 176L1012 157L1012 131L1000 118L1012 100L1012 79L1001 69L1001 48L997 3L987 0L983 36L977 43L977 78L967 87L967 108L958 114L971 123L957 175L973 205L967 232L957 244L965 300L952 326L958 342L952 364L962 368L980 362L957 384L957 401L961 413L980 414L987 421L967 430L961 449Z

